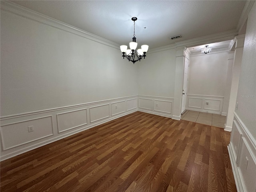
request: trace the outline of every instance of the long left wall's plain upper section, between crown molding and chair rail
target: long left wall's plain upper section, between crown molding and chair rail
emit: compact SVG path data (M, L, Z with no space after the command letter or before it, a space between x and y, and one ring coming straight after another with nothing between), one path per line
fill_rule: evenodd
M1 116L138 94L120 50L1 10Z

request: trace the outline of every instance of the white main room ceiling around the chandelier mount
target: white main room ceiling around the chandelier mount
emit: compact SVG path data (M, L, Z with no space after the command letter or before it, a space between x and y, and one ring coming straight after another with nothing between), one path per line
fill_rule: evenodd
M132 40L133 21L138 46L157 48L237 30L246 1L240 0L20 0L12 1L117 44ZM144 29L146 27L146 29ZM182 38L171 40L170 37ZM200 48L199 48L200 49Z

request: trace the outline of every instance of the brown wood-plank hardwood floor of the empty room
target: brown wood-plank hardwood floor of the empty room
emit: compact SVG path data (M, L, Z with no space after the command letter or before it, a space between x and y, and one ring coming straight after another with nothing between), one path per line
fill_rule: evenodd
M236 192L229 140L135 112L1 162L1 192Z

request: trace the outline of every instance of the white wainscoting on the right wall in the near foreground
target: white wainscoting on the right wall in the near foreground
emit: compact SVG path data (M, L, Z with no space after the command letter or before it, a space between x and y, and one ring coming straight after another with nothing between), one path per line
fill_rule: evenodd
M234 112L228 153L238 192L256 191L256 140Z

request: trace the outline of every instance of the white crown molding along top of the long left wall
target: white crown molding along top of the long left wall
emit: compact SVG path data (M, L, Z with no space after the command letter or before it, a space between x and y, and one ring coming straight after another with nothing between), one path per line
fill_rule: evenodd
M72 34L76 34L78 36L93 40L95 42L110 46L112 48L120 49L120 45L117 43L114 43L110 40L104 39L100 36L96 36L94 34L91 34L89 32L86 32L84 30L81 30L79 28L76 28L74 26L71 26L69 24L66 24L64 22L61 22L59 20L56 20L54 18L48 17L46 15L40 14L36 11L33 11L31 9L25 8L23 6L20 6L18 4L15 4L10 1L1 1L1 10L5 10L8 12L11 12L13 14L16 14L18 16L22 16L43 24L46 24L48 26L52 26L54 28L58 28L60 30L64 30L66 32L70 32Z

